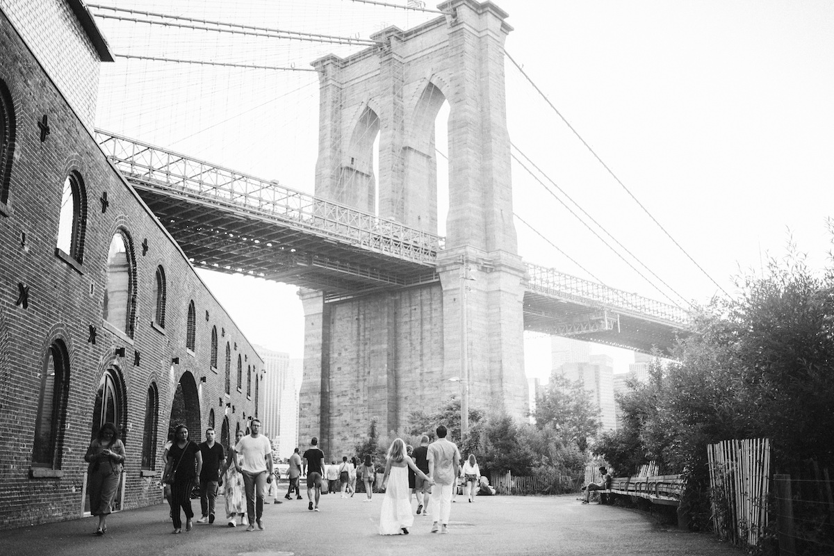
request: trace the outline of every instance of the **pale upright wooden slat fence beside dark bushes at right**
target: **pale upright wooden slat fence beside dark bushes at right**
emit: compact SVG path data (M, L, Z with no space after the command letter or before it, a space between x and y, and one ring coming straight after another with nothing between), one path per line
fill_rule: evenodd
M771 446L767 438L724 440L706 448L716 534L753 547L767 525Z

